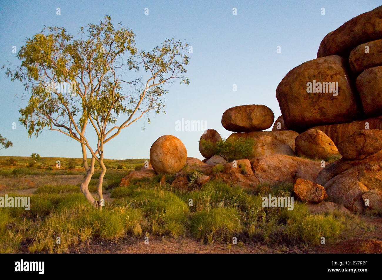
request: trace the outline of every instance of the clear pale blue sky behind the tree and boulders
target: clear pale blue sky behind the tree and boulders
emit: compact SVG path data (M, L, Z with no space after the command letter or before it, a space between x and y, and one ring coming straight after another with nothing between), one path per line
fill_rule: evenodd
M172 134L186 146L189 157L199 153L201 131L177 131L176 121L206 122L227 138L231 132L221 125L222 114L230 107L264 104L275 118L280 108L275 96L278 83L297 65L316 58L322 38L349 19L379 6L380 0L367 1L1 1L0 65L18 63L17 51L25 37L32 37L46 26L63 26L76 36L79 27L98 24L110 15L136 34L138 49L151 50L164 39L186 39L189 53L189 86L167 87L166 114L150 115L124 129L106 144L105 158L148 158L152 143ZM60 8L61 15L56 15ZM149 8L149 15L144 9ZM233 8L237 15L233 15ZM325 8L325 15L321 15ZM277 46L281 53L277 53ZM233 91L233 84L237 91ZM78 142L57 131L44 131L28 138L18 122L18 110L25 102L20 83L11 82L0 72L0 134L13 147L0 155L42 157L81 157ZM16 95L16 96L15 96ZM12 123L16 122L16 129ZM145 127L143 130L142 127ZM94 147L96 140L94 139Z

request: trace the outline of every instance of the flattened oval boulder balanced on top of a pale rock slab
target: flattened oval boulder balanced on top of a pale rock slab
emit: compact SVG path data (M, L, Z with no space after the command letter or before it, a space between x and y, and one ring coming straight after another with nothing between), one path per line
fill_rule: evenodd
M265 105L243 105L226 110L222 125L235 132L261 131L270 128L274 120L274 113Z

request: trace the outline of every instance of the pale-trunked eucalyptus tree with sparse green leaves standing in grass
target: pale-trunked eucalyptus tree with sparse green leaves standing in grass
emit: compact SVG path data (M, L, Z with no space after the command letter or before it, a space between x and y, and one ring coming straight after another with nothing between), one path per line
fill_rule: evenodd
M5 72L25 88L28 104L19 110L19 121L29 137L52 130L79 143L86 171L80 188L99 209L107 170L105 144L150 111L164 112L166 84L176 80L189 84L185 76L188 44L184 40L165 39L144 51L137 49L134 38L121 23L114 27L110 16L100 24L81 27L77 38L63 27L45 26L27 38L17 53L21 65L8 62ZM89 131L97 136L97 142L89 141ZM95 162L102 168L98 200L88 189Z

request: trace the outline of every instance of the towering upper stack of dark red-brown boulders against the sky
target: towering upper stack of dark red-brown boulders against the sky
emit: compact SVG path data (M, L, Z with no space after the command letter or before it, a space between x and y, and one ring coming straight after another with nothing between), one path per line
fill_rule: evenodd
M323 131L337 146L357 130L382 129L382 6L325 36L276 97L288 129Z

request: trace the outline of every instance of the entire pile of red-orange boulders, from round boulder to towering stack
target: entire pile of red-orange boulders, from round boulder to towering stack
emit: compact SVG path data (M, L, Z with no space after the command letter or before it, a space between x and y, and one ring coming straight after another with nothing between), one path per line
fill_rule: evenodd
M247 158L217 154L215 129L200 138L204 160L187 157L180 139L165 135L151 146L151 165L121 185L155 174L173 174L172 187L181 190L210 178L248 189L286 182L313 212L382 210L382 6L325 36L317 58L290 70L276 97L282 116L275 123L265 105L222 115L233 132L225 141L254 140Z

